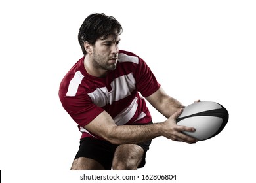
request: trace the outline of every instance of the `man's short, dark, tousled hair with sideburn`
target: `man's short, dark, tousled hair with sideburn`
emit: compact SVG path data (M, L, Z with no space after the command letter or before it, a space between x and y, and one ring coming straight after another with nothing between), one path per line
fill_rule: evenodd
M85 21L83 21L78 33L78 41L83 54L87 54L83 46L85 41L95 45L96 40L100 37L106 39L108 35L120 35L122 31L121 24L112 16L106 16L104 13L89 15L85 18Z

